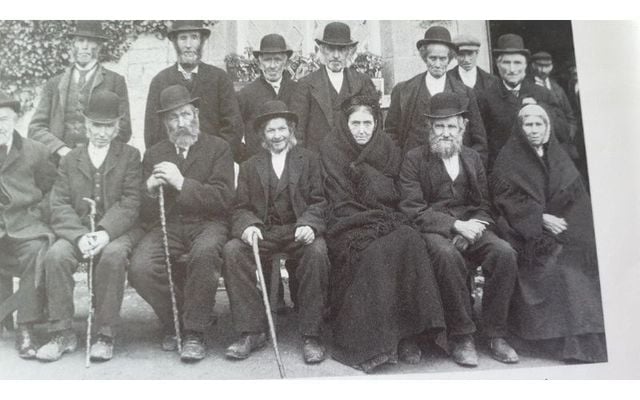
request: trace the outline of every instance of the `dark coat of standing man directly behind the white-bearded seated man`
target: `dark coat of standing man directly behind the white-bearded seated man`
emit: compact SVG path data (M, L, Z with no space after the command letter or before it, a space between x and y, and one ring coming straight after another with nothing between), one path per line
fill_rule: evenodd
M425 76L427 72L423 72L409 79L408 81L398 83L391 92L391 104L389 105L389 113L385 120L385 132L402 149L402 154L406 154L409 150L420 146L428 141L429 131L427 118L423 116L427 110L418 107L418 91L422 87L427 92L427 96L431 98L429 90L426 88ZM464 134L464 144L477 151L483 159L487 154L487 136L484 124L480 117L476 96L473 90L466 87L462 82L447 77L445 92L457 93L469 99L467 130ZM412 121L420 118L420 130L412 129Z

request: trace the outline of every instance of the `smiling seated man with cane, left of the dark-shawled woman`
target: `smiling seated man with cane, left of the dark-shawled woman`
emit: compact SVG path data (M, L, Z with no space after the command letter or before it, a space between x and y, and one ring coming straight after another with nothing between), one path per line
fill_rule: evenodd
M224 247L224 279L235 329L240 339L227 349L227 357L243 359L264 346L266 317L256 289L256 265L251 246L258 241L260 254L269 259L284 252L299 260L297 303L304 360L319 363L325 358L320 341L325 306L329 258L322 234L325 231L321 167L318 157L296 147L298 117L285 103L266 102L254 122L262 132L263 147L240 167L234 239Z

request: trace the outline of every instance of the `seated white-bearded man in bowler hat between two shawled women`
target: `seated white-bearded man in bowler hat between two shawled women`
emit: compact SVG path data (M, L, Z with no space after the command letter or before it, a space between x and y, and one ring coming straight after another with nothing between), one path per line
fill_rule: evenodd
M480 155L462 145L467 126L464 99L455 93L431 98L428 145L409 151L400 172L400 209L422 233L444 305L453 360L476 366L469 268L485 275L481 333L491 356L515 363L506 342L507 316L516 281L516 252L493 233L487 178Z

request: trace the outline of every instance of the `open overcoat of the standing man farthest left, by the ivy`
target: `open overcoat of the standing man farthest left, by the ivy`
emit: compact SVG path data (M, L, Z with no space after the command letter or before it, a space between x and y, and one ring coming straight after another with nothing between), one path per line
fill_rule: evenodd
M44 85L40 102L29 124L29 137L44 143L49 149L49 153L54 153L60 147L66 146L62 138L64 137L65 107L72 73L73 67L67 68L65 72L54 76ZM124 77L98 65L93 77L90 96L99 91L110 91L120 98L118 109L122 118L117 139L122 143L127 143L131 138L131 117L129 94ZM89 97L87 104L90 100Z

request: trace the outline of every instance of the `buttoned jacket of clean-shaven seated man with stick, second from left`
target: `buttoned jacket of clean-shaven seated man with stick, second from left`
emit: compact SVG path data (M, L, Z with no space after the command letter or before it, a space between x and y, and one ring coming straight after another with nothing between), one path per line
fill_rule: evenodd
M90 207L83 198L93 198L91 159L86 146L62 158L58 179L51 190L51 228L57 236L76 243L89 232ZM132 229L140 210L142 164L135 148L113 141L104 160L100 196L104 204L96 230L105 230L111 241Z

